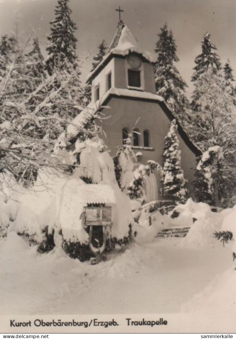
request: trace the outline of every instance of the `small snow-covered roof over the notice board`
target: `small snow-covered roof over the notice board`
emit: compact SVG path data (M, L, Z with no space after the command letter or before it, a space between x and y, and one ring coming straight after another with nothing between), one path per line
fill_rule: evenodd
M110 185L81 185L78 193L86 204L114 204L116 202L113 188Z

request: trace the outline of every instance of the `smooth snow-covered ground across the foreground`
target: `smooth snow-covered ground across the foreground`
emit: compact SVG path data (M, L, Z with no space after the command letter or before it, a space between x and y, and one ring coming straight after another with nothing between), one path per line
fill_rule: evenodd
M60 250L39 254L11 232L1 241L0 312L157 314L181 312L185 304L194 312L192 297L232 267L232 251L221 244L187 248L181 241L136 242L124 253L90 265ZM199 308L199 298L196 303ZM220 312L220 304L213 307Z

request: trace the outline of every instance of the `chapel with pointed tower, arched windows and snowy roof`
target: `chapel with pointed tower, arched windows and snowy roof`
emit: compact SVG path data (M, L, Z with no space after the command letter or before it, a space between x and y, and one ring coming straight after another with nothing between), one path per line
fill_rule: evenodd
M102 119L101 124L111 156L115 156L128 133L134 131L132 149L137 156L134 169L148 160L163 165L164 138L170 122L176 118L164 99L156 94L153 62L155 57L143 51L131 31L121 23L107 53L87 78L92 84L89 106L106 106L101 112L107 119ZM191 192L193 168L200 151L179 123L178 138L182 168ZM151 174L145 185L147 201L161 199L160 187L159 175Z

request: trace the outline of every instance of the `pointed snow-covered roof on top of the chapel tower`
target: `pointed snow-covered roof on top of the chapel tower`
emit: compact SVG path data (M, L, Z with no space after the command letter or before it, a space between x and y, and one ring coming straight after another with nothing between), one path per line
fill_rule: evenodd
M87 81L89 81L94 76L98 68L101 67L101 65L110 57L111 54L126 56L132 52L141 54L146 60L150 62L156 61L156 57L152 53L144 51L128 27L125 24L122 24L117 28L112 43L110 44L103 59L100 61L97 67L89 73Z

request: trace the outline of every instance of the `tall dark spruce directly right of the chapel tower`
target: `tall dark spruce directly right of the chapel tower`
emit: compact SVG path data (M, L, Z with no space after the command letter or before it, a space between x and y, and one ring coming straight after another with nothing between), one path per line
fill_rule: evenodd
M168 31L167 23L158 36L155 48L157 62L154 65L156 91L165 99L171 111L184 122L189 104L186 97L187 84L175 67L179 58L176 55L175 39L172 31Z

